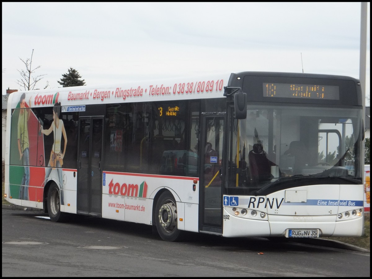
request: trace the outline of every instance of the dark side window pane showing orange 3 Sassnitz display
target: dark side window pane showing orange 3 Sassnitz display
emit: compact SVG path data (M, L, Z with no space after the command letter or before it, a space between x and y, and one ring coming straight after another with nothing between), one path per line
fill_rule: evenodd
M199 102L156 102L153 111L152 173L196 176Z

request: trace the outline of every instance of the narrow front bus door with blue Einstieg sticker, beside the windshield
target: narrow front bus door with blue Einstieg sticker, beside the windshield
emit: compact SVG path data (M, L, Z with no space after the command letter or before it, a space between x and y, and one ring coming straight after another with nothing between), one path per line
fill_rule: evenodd
M222 138L225 115L205 114L201 129L199 230L222 234Z

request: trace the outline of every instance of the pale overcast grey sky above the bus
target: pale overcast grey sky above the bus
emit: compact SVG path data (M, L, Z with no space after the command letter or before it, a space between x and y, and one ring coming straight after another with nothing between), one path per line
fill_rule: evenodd
M87 85L240 71L359 78L360 2L2 2L2 93L21 89L19 58L60 87L72 67ZM370 29L366 95L370 84ZM302 63L301 63L302 53ZM368 101L367 101L368 102ZM369 103L368 103L369 104Z

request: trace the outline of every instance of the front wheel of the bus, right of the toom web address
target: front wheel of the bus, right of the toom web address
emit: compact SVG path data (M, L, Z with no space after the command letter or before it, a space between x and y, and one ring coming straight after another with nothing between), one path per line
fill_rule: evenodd
M162 193L155 207L156 229L165 241L180 241L183 232L177 228L177 206L174 197L168 191Z

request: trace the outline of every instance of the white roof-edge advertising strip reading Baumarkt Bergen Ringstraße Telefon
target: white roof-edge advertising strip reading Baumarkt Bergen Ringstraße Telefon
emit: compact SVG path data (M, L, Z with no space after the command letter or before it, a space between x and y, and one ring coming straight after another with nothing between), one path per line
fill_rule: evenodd
M32 95L30 106L33 108L52 106L59 101L64 106L62 112L84 111L85 105L93 104L224 98L224 86L227 85L230 74L127 82L116 85L75 86L58 88L58 92L41 89L25 93L26 100ZM12 100L12 108L18 104L16 99Z

